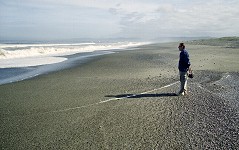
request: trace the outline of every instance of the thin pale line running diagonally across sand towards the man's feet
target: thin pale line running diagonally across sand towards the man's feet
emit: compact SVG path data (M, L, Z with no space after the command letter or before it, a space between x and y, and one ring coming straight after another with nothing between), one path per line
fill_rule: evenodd
M171 84L168 84L168 85L165 85L165 86L160 87L160 88L157 88L157 89L153 89L153 90L150 90L150 91L145 91L145 92L142 92L142 93L140 93L140 94L151 93L151 92L154 92L154 91L157 91L157 90L161 90L161 89L170 87L170 86L175 85L175 84L177 84L177 83L179 83L179 81L174 82L174 83L171 83ZM100 102L98 102L98 103L93 103L93 104L84 105L84 106L79 106L79 107L73 107L73 108L60 109L60 110L55 110L55 111L50 111L50 112L45 112L45 113L66 112L66 111L75 110L75 109L81 109L81 108L85 108L85 107L89 107L89 106L93 106L93 105L99 105L99 104L107 103L107 102L110 102L110 101L116 101L116 100L122 100L122 99L126 99L126 98L132 98L132 97L135 97L135 96L137 96L137 95L138 95L138 94L133 94L133 95L128 95L128 96L124 96L124 97L120 97L120 98L111 98L111 99L107 99L107 100L104 100L104 101L100 101Z

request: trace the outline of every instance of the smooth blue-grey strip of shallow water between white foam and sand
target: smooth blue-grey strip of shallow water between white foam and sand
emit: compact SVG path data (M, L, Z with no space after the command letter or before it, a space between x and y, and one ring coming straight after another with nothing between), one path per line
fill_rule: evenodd
M82 63L86 63L90 59L94 59L93 57L107 55L111 53L113 53L112 50L83 52L64 56L65 58L67 58L67 60L59 63L29 67L0 68L0 85L19 82L51 72L61 71L67 68L74 67L76 65L80 65ZM77 64L74 64L74 62L76 61Z

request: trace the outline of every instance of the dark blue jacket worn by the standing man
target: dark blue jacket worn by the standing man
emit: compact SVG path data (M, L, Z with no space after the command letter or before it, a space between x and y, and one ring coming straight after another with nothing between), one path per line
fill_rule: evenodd
M188 71L189 66L190 66L189 54L184 49L180 52L180 55L179 55L178 69L179 71L186 72Z

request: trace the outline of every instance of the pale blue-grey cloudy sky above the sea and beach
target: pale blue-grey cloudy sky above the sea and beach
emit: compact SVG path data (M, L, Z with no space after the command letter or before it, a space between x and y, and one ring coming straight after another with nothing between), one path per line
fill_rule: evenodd
M239 36L239 0L0 0L0 39Z

